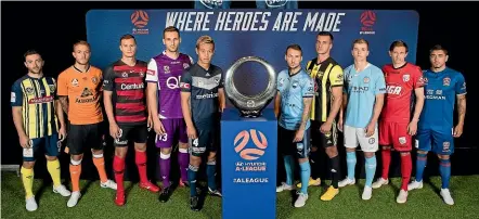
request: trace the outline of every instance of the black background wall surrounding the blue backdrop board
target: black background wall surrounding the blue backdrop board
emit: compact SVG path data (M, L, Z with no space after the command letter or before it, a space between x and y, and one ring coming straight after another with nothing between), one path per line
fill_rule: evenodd
M1 59L1 163L21 164L22 151L13 126L10 110L11 85L24 74L23 54L37 49L44 61L44 73L56 77L73 64L72 44L86 39L86 13L90 9L192 9L193 2L2 2L2 59ZM255 8L255 2L233 2L232 8ZM453 175L479 173L479 143L475 138L476 114L479 108L472 98L478 95L475 82L478 79L478 5L472 2L299 2L300 9L388 9L416 10L419 13L419 36L417 65L428 68L429 49L441 43L450 51L448 65L462 72L468 85L468 102L464 134L455 141L456 153L452 158ZM158 39L159 43L159 39ZM93 55L101 55L95 54ZM342 149L342 147L340 147ZM112 151L112 149L109 150ZM153 151L153 150L152 150ZM107 152L108 153L108 152ZM88 156L87 156L88 157ZM437 173L437 164L429 163L429 172ZM398 157L394 158L396 162ZM392 172L399 167L394 165ZM68 164L68 156L62 155L62 164ZM153 160L153 159L152 159ZM359 165L361 165L360 160ZM88 162L88 158L85 163ZM88 162L90 163L90 162ZM107 162L108 163L108 162ZM156 162L153 160L152 164ZM90 163L91 164L91 163ZM431 167L432 166L432 167ZM91 166L93 167L93 166ZM40 167L44 169L44 166ZM66 169L67 166L64 166ZM108 168L108 167L107 167ZM91 168L83 168L89 176ZM94 169L94 168L93 168ZM361 168L362 169L362 168ZM154 171L154 170L152 170ZM63 171L68 175L67 171ZM96 175L93 175L96 176Z

